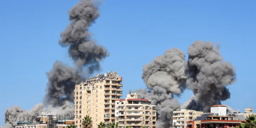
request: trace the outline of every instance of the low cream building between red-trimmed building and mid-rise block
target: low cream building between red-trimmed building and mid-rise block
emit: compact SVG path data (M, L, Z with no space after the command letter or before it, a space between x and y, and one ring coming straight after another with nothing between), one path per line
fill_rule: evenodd
M201 114L203 114L201 111L177 109L173 111L173 127L187 128L187 122L196 119Z

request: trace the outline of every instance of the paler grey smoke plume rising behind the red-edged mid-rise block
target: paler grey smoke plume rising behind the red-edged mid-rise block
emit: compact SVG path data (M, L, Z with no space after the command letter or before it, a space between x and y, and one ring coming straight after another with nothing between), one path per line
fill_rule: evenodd
M151 99L156 104L159 128L171 127L172 111L180 108L173 95L179 95L186 88L184 61L185 53L172 48L143 67L142 79L149 90L138 89L136 92L140 98Z

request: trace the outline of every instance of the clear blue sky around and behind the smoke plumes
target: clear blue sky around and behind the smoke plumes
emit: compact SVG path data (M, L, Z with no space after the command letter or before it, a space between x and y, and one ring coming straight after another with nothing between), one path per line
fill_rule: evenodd
M68 65L67 48L58 45L60 32L69 24L68 10L77 0L0 1L0 125L6 108L31 109L42 102L46 72L55 60ZM236 67L237 82L228 86L233 109L256 111L255 48L256 1L121 1L105 0L101 16L90 31L110 56L102 71L118 71L124 96L129 89L144 88L143 65L177 47L187 53L196 40L221 44L226 61ZM193 93L186 90L182 104Z

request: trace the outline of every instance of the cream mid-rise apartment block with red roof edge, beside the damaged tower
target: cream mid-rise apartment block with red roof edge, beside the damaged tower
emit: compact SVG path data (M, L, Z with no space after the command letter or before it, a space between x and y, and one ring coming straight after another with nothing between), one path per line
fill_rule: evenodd
M120 127L130 128L156 128L156 105L147 99L138 99L136 93L129 93L126 99L115 102L115 122Z

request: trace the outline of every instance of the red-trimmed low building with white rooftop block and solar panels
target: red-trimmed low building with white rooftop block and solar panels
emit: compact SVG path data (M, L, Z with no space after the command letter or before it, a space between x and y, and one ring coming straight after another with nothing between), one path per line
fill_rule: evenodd
M187 122L187 128L234 128L242 123L235 114L226 113L225 105L211 106L211 113L201 114L193 121Z

